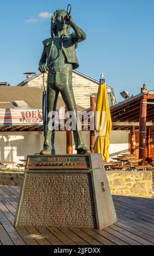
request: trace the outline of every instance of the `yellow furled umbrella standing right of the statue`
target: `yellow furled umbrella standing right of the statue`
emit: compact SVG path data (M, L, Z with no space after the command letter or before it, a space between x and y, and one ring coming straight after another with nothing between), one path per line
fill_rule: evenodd
M102 81L104 83L102 84ZM110 133L112 131L112 120L110 113L110 106L107 97L107 88L105 80L100 80L100 86L98 89L98 98L96 106L96 131L97 140L94 144L94 153L101 153L104 161L108 161L110 158L109 145L110 145Z

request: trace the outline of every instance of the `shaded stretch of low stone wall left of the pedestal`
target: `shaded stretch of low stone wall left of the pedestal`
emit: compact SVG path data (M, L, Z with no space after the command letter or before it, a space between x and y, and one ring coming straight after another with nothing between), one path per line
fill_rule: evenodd
M0 185L21 186L23 173L0 172Z

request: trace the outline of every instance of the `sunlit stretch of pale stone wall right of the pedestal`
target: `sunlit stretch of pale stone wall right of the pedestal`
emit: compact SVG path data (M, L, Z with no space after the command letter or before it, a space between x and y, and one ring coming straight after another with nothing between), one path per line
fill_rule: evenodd
M107 171L111 193L118 196L152 198L152 171Z

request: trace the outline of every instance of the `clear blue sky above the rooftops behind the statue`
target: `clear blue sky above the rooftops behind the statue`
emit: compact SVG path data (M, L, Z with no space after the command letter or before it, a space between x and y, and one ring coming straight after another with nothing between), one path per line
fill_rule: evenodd
M42 41L50 36L48 16L69 3L87 34L78 46L78 70L95 79L103 72L118 100L124 89L138 94L144 82L154 89L153 0L1 1L0 81L16 85L24 72L38 72Z

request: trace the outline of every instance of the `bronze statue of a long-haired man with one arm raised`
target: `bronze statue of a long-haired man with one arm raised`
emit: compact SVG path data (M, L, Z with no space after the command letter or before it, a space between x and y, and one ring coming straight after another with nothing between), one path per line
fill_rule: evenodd
M70 28L73 28L74 33L70 34ZM73 131L75 149L78 154L91 153L82 142L81 133L78 129L78 111L72 88L72 70L79 67L75 48L78 46L78 42L86 39L86 34L76 26L72 16L68 15L65 10L59 9L52 16L51 35L51 38L43 41L44 48L39 63L40 72L48 72L47 114L56 111L56 103L60 92L67 110L74 113L76 124L76 130ZM49 121L52 121L50 114L48 115L44 147L40 153L42 155L55 154L55 131L49 129Z

